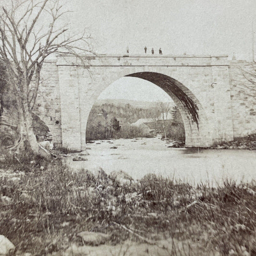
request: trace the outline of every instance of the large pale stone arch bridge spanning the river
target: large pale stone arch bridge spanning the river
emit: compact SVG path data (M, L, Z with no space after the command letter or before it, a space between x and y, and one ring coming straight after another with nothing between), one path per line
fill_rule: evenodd
M56 147L81 151L100 93L133 76L162 88L181 112L187 147L208 147L255 132L256 112L237 87L239 61L227 56L70 56L48 61L34 111L49 126Z

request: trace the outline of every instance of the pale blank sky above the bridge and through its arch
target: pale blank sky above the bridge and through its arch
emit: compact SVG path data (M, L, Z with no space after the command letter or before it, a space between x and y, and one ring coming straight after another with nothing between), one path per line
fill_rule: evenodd
M128 46L130 54L139 55L146 46L156 51L161 47L163 54L252 60L256 0L72 0L69 7L71 27L86 27L98 54L123 55ZM156 95L170 98L145 80L128 78L110 85L99 98L117 95L146 101Z

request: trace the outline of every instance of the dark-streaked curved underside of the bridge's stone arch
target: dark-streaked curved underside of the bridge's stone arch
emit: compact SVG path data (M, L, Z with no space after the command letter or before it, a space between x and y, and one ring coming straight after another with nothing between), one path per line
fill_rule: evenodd
M195 95L185 85L166 74L156 72L130 73L122 77L136 77L147 80L158 85L172 98L183 118L186 147L207 147L212 144L205 111ZM95 100L107 86L101 87ZM90 110L88 111L88 116Z

